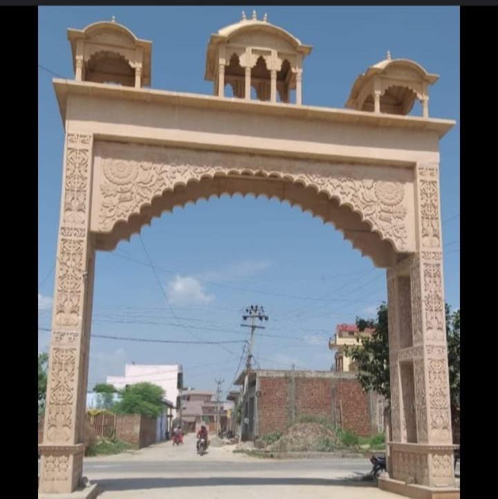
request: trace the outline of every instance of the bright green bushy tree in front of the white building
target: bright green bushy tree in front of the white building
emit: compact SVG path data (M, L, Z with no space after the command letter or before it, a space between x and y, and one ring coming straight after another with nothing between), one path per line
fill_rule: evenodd
M136 383L120 390L121 399L114 406L122 414L142 414L157 417L163 412L164 390L153 383Z

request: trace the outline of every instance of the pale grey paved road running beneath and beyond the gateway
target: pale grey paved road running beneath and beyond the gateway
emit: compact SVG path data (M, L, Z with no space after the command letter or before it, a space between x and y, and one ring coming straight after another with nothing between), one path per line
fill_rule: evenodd
M367 459L264 460L233 446L196 455L193 435L133 453L84 460L83 473L101 499L400 499L365 480Z

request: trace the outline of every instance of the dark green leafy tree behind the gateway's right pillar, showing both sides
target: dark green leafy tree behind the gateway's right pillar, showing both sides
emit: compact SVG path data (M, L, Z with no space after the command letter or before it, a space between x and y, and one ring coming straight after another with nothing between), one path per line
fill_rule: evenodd
M450 399L452 412L460 407L460 310L451 313L445 304L446 339L448 341L448 368L450 377ZM390 399L389 387L389 339L387 336L387 306L382 303L377 310L377 318L356 318L360 332L367 328L375 329L371 338L357 337L358 345L346 347L345 353L358 365L358 381L362 389L376 390Z

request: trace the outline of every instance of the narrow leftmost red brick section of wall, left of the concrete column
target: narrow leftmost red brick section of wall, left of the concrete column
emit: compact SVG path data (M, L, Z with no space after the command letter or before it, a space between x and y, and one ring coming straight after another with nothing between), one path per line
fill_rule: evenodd
M287 383L287 378L259 378L259 435L286 428Z

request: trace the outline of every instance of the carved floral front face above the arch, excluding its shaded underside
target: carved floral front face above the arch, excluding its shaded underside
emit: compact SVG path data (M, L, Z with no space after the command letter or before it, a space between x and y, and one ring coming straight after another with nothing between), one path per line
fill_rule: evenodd
M398 251L407 251L408 179L388 180L380 175L365 179L362 174L355 175L354 165L165 147L126 147L111 143L95 146L96 167L102 172L98 229L103 233L110 232L117 221L127 221L130 215L140 213L154 197L176 185L215 175L271 174L335 197L360 213Z

